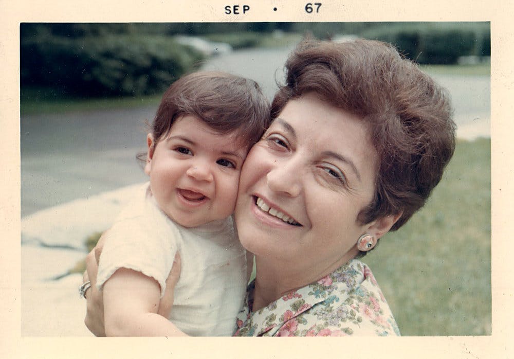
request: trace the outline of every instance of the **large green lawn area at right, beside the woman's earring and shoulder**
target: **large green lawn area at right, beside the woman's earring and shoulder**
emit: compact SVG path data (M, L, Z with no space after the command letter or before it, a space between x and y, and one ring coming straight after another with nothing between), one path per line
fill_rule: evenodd
M402 335L491 334L490 145L459 141L425 207L363 258Z

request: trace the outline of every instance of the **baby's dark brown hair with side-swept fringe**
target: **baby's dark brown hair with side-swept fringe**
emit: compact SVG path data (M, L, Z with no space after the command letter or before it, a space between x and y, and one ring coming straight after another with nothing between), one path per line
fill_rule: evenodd
M259 84L221 71L198 71L181 77L167 89L151 126L155 143L184 115L199 118L219 134L236 131L247 149L271 122L269 101Z

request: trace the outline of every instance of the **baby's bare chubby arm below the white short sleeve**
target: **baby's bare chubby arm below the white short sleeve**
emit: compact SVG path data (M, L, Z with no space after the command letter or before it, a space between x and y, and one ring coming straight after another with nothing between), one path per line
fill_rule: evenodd
M157 314L160 286L140 272L120 268L103 285L107 336L186 336Z

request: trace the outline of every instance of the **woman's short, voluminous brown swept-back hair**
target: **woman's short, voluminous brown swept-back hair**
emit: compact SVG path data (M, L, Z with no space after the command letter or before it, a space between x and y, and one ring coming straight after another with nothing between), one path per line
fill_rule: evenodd
M276 118L287 101L314 92L366 121L379 157L375 198L361 223L401 213L407 222L439 183L455 149L447 91L391 45L356 40L307 40L286 62L286 84L271 104Z

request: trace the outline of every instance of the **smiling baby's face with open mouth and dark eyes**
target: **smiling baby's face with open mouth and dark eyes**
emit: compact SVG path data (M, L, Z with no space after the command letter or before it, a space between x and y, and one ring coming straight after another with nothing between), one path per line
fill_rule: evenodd
M235 133L220 135L195 116L178 118L155 143L148 135L144 172L160 209L176 223L196 227L234 211L248 150Z

